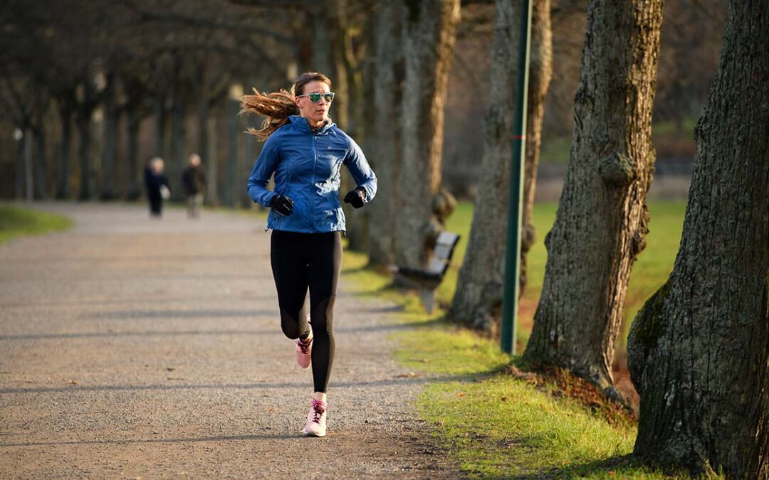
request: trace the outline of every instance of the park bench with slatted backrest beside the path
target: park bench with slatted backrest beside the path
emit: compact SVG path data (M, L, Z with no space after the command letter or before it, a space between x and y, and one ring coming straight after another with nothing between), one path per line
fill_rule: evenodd
M419 296L424 304L424 310L432 313L435 303L435 289L443 281L448 270L448 263L454 254L454 247L459 242L459 235L451 232L441 232L435 240L432 259L425 269L397 266L395 268L395 283L419 290Z

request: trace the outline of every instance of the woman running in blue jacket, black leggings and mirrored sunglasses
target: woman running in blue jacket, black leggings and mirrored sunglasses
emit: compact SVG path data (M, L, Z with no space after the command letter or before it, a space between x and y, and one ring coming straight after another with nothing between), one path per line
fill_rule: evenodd
M334 92L331 80L301 74L290 92L246 95L241 112L267 116L261 130L251 129L265 146L248 178L251 200L271 207L270 259L278 290L281 327L296 339L296 359L312 364L314 393L305 435L326 435L326 389L334 361L334 302L341 270L341 232L345 214L339 201L344 164L357 187L345 195L355 208L371 201L377 178L358 144L328 117ZM275 190L267 190L275 174ZM304 305L310 290L310 313Z

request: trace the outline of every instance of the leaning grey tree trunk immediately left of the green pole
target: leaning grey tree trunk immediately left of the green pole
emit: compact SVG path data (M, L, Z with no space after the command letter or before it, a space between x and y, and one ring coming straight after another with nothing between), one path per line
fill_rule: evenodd
M481 177L468 250L459 272L451 316L494 333L504 285L504 239L508 227L511 131L518 58L520 2L497 0L491 42L491 91L484 118Z

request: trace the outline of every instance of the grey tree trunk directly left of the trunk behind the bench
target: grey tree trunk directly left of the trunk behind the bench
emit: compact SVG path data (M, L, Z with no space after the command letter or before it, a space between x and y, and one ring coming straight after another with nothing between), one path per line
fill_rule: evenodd
M398 105L401 103L401 28L399 2L382 2L376 15L376 61L374 129L371 132L371 160L377 174L377 197L371 203L368 253L371 263L390 265L395 262L395 222L398 184L395 181L401 163L400 123Z

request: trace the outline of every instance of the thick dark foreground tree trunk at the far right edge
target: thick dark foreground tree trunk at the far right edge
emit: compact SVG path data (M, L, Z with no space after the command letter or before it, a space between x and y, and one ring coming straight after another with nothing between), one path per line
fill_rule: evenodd
M635 453L769 478L769 2L731 2L673 273L633 321Z

